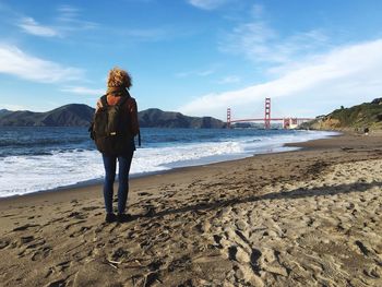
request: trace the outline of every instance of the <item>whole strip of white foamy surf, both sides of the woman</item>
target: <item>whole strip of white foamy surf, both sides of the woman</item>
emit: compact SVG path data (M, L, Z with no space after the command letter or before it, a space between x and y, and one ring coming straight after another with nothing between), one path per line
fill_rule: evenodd
M283 147L283 144L332 134L305 131L283 135L239 137L225 142L139 148L134 154L131 175L291 150ZM103 160L97 151L81 150L53 155L3 157L0 158L0 198L67 187L102 179L103 176Z

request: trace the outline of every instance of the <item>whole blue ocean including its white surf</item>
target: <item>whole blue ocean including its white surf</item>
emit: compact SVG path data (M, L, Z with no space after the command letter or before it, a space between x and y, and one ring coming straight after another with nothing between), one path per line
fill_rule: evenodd
M142 129L131 177L296 150L284 143L333 132L253 129ZM0 198L102 182L100 154L86 128L0 127Z

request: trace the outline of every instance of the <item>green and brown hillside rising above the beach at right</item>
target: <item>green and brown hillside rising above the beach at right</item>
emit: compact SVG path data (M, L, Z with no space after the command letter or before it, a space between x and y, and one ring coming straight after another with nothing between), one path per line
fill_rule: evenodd
M362 131L365 128L382 130L382 98L363 103L351 108L339 108L305 123L302 128L313 130Z

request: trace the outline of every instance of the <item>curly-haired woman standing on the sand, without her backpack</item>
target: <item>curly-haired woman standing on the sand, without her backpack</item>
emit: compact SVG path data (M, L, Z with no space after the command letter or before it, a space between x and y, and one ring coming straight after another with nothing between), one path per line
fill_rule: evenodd
M131 215L126 213L126 205L129 193L129 172L131 160L135 151L134 136L139 134L139 122L138 122L138 108L136 101L129 94L129 88L131 87L131 76L130 74L119 68L114 68L109 71L107 79L107 92L106 92L106 103L98 99L96 112L98 112L105 105L115 106L120 100L121 111L124 117L128 117L128 123L123 129L127 129L127 133L132 135L127 142L126 148L119 151L118 153L105 154L103 153L103 160L105 167L105 182L104 182L104 200L106 208L105 222L128 222ZM114 182L116 178L118 160L118 214L114 213L112 210L112 196L114 196Z

